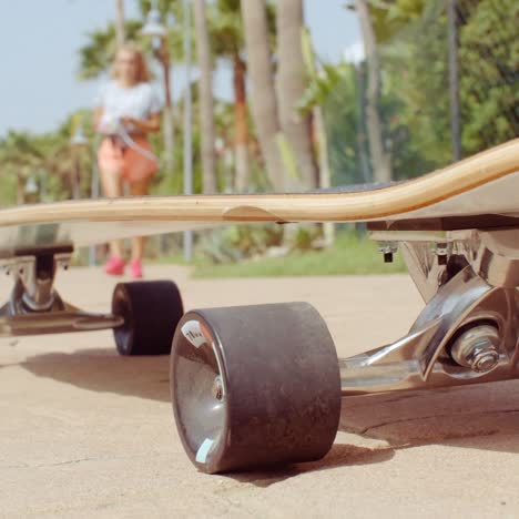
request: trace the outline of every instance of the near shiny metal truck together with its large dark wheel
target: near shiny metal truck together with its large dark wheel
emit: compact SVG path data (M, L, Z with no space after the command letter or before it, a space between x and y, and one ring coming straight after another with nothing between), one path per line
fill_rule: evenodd
M189 312L171 357L184 448L202 471L312 461L332 447L340 397L519 377L519 226L387 231L426 306L393 344L337 359L306 303ZM369 225L368 225L369 228Z

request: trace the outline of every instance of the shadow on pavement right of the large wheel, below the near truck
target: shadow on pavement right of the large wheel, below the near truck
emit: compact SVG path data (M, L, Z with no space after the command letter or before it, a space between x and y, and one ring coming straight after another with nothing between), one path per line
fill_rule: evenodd
M519 379L346 397L339 428L386 440L395 448L441 442L516 452L519 451ZM517 436L515 441L510 442L510 436Z

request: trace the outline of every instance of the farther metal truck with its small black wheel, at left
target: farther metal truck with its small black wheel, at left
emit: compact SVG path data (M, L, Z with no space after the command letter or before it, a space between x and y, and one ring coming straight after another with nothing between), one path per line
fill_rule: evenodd
M120 283L112 297L112 313L84 312L63 301L54 288L60 268L67 269L71 245L18 250L0 258L13 277L8 302L0 307L0 337L93 332L113 328L121 355L164 355L171 349L183 306L173 282Z

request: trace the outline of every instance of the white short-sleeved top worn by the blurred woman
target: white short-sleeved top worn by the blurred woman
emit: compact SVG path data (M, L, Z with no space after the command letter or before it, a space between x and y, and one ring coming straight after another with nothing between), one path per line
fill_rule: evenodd
M100 121L102 133L112 133L122 116L149 119L162 109L161 99L151 83L123 88L113 80L101 86L94 104L103 109Z

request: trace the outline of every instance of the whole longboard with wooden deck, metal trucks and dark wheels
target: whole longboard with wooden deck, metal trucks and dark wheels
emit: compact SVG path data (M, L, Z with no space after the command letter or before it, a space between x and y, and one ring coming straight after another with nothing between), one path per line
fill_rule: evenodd
M0 265L13 288L0 307L0 337L112 328L122 355L171 353L179 435L205 472L315 461L332 447L342 396L519 378L518 193L515 140L393 185L3 210ZM53 287L73 247L109 238L207 224L356 221L387 237L385 260L401 247L426 305L406 336L344 359L307 303L184 313L173 282L151 281L119 283L111 313L92 314ZM438 228L452 232L425 232Z

